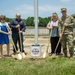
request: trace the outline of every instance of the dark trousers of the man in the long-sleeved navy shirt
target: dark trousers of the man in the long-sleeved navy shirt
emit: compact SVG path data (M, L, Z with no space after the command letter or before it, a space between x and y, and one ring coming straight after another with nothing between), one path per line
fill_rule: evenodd
M21 47L21 45L20 45L20 38L19 38L19 34L18 34L18 33L12 33L12 39L13 39L14 45L15 45L15 47L16 47L16 50L15 50L15 48L13 47L13 52L16 53L16 51L18 51L17 43L18 43L18 45L19 45L20 51L21 51L21 52L24 52L23 34L21 34L22 47ZM21 49L21 48L22 48L22 49Z

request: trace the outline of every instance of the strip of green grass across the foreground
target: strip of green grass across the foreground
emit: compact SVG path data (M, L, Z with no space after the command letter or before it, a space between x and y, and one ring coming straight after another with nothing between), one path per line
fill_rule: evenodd
M0 75L75 75L75 59L0 59Z

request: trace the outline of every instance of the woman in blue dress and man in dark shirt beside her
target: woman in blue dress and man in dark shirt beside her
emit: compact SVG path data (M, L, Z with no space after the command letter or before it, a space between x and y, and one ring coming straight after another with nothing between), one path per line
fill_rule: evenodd
M0 53L1 57L4 58L3 55L3 45L7 45L7 56L10 56L10 42L9 42L9 35L12 36L13 41L13 54L16 54L16 52L20 49L20 52L25 52L24 45L23 45L23 32L26 29L26 24L21 19L20 14L16 14L16 18L13 19L10 22L10 25L5 22L6 17L4 15L0 16ZM12 33L11 33L12 32ZM19 36L20 34L20 36ZM21 40L20 40L21 38ZM17 46L17 43L19 45L19 49Z

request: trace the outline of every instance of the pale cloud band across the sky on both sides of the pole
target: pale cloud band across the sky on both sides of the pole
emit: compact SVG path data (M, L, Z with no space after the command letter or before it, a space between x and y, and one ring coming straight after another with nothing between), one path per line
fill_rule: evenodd
M62 0L61 0L62 1ZM63 1L72 1L72 0L63 0ZM51 5L51 4L42 4L39 6L39 16L45 17L51 15L53 12L57 12L60 14L60 8L64 5ZM74 6L74 5L72 5ZM68 11L74 10L74 7L70 7L69 5L64 6L68 8ZM12 8L9 10L1 11L0 14L4 14L7 17L15 17L16 13L20 13L22 18L27 18L29 16L34 16L34 5L24 4L16 8Z

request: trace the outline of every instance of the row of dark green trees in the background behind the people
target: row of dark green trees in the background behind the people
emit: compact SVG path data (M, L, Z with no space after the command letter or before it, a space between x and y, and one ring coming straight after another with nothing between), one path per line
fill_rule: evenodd
M6 22L10 22L13 18L6 18ZM25 23L26 26L35 26L34 24L34 17L28 17L27 19L22 19ZM38 26L39 27L46 27L47 23L51 20L51 16L50 17L39 17L38 18L39 23Z

